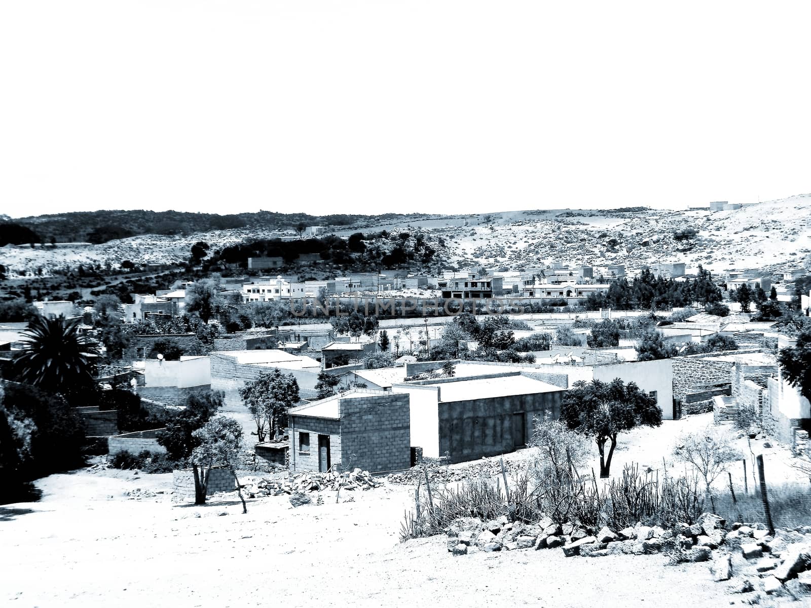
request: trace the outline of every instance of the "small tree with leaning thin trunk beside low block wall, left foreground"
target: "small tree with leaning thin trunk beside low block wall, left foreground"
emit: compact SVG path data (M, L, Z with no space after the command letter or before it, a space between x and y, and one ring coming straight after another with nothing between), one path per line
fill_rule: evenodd
M197 443L191 452L191 469L195 476L195 504L205 504L211 469L213 466L222 466L234 476L239 499L242 501L242 512L247 513L235 470L239 449L242 447L242 426L234 418L215 416L195 430L192 436Z

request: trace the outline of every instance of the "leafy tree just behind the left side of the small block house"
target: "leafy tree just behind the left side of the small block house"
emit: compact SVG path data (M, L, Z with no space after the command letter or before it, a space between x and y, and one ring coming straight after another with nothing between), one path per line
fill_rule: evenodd
M274 369L263 372L239 389L242 403L247 406L256 425L256 438L264 442L265 427L271 437L276 436L281 418L298 402L298 382L292 374Z

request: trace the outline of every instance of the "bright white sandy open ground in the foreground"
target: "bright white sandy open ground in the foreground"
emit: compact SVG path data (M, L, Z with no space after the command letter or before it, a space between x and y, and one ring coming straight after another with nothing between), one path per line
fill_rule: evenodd
M169 475L54 475L39 503L0 507L5 606L718 606L706 565L559 551L453 558L439 537L401 544L411 488L292 509L281 497L173 506ZM350 493L345 492L345 495ZM113 496L110 499L109 496ZM32 512L26 512L31 509ZM225 516L218 516L226 512ZM195 517L195 513L201 516Z

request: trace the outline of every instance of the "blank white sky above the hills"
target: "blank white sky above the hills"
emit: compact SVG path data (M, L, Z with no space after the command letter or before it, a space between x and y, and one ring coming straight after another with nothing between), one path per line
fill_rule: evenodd
M0 213L811 191L811 2L6 0Z

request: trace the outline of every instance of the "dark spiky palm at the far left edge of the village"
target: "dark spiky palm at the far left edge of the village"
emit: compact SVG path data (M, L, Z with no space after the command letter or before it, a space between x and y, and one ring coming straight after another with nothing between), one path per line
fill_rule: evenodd
M49 392L92 385L91 358L98 349L79 334L79 319L37 317L24 336L24 347L14 360L19 382Z

